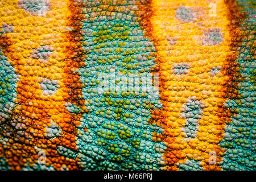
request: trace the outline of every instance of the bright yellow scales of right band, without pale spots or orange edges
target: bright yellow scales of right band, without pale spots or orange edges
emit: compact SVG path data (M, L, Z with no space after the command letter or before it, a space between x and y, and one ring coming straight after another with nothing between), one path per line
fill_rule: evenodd
M223 154L218 143L223 137L224 124L229 122L229 118L223 121L217 114L220 113L219 106L226 101L222 97L224 89L222 84L229 81L229 76L225 76L221 71L215 76L210 76L209 72L213 67L224 65L226 58L232 53L229 48L228 25L230 22L227 19L229 11L222 0L152 0L151 7L153 12L150 19L151 36L157 51L156 60L160 67L160 80L163 80L159 84L162 84L160 98L166 98L162 100L166 105L162 110L166 113L165 118L168 121L167 128L164 130L175 137L174 142L169 144L171 148L182 152L184 159L177 163L193 159L205 170L219 169L217 165L209 164L209 159L214 162L211 157L214 158L214 154L217 154L216 164L218 164ZM190 21L177 19L179 7L195 12L194 19L191 17ZM189 16L187 17L189 19ZM204 32L209 28L220 28L223 33L220 44L202 44ZM189 64L187 74L173 73L174 64L179 63ZM183 128L186 121L180 115L189 97L196 97L203 103L204 109L203 117L198 121L196 138L185 139ZM167 169L178 168L176 165L168 166L167 164Z

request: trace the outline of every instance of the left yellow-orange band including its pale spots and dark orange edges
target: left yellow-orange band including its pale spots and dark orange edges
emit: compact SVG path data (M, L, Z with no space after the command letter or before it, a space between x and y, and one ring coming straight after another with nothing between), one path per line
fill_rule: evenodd
M57 146L76 150L76 126L82 115L72 115L65 107L67 102L78 106L83 103L78 100L79 76L73 73L82 60L80 30L72 14L76 5L72 1L50 1L46 12L39 14L31 9L43 5L22 9L20 3L1 1L1 24L14 27L1 35L1 48L19 75L16 107L5 121L12 137L2 146L1 155L16 170L37 163L39 151L46 152L46 166L79 169L75 160L57 152ZM55 85L53 93L49 91L51 84ZM57 126L60 137L47 134L52 126Z

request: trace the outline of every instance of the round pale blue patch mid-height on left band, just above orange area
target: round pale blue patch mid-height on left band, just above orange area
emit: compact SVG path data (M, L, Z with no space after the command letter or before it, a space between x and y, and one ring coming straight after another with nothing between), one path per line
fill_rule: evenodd
M53 96L60 87L60 85L57 84L57 80L48 78L43 78L39 85L44 96Z

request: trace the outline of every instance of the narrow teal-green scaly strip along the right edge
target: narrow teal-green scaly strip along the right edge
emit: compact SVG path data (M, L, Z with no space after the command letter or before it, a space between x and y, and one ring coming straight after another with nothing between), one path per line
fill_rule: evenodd
M238 1L246 17L237 28L241 39L237 40L234 51L238 51L237 62L242 73L238 80L240 97L226 102L225 106L234 109L235 115L225 129L221 147L226 149L222 159L224 170L255 170L256 168L256 124L255 124L255 3Z

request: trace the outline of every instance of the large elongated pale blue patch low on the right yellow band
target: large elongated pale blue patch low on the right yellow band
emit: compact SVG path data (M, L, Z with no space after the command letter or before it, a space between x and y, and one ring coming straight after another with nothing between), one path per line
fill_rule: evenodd
M198 121L203 116L203 107L203 104L195 97L188 98L183 105L180 117L186 120L185 127L181 129L186 136L185 139L196 138L199 127Z

